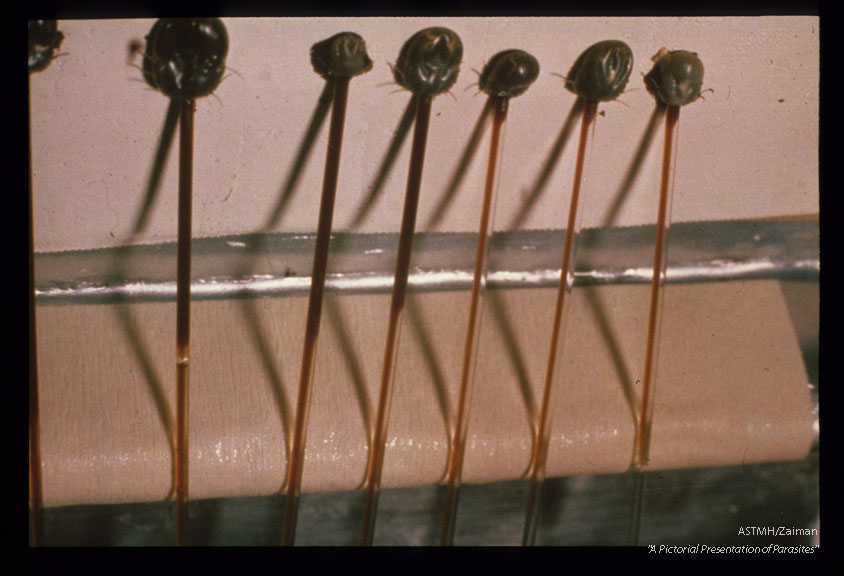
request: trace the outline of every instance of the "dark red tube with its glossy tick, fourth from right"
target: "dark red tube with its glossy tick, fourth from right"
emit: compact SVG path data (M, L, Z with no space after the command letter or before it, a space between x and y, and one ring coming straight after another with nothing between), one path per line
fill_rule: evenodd
M404 211L399 234L398 258L390 303L390 319L387 327L387 342L384 349L384 365L381 372L381 388L375 420L375 430L370 439L369 458L364 478L366 502L361 529L361 545L372 545L375 533L375 515L378 494L381 488L381 472L384 467L384 450L387 438L387 420L395 376L399 332L404 311L410 254L416 228L416 211L419 192L422 187L422 167L425 161L425 147L428 139L428 123L431 104L437 94L449 90L457 80L463 44L460 37L447 28L426 28L414 34L399 53L393 76L402 87L410 90L416 98L416 120L413 131L413 146L410 152L410 168L407 177Z

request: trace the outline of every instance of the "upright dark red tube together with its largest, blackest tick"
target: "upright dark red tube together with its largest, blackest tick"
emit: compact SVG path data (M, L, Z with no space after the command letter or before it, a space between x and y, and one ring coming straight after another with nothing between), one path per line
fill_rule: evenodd
M144 79L180 103L179 205L176 264L176 541L187 544L189 499L190 285L193 199L193 124L196 99L219 85L228 33L217 18L156 20L147 35Z

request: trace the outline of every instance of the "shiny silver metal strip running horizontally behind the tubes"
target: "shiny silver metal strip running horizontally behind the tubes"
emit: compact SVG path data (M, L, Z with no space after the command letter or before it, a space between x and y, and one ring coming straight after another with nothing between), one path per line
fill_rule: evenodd
M563 230L496 233L490 244L490 288L554 286L560 278ZM817 220L674 224L668 282L750 278L817 280ZM650 282L654 226L584 230L575 282ZM193 241L195 299L303 295L310 287L315 236L240 235ZM397 234L335 234L326 288L350 293L392 288ZM420 233L410 288L468 290L474 233ZM169 301L176 297L176 244L123 246L36 255L39 304Z

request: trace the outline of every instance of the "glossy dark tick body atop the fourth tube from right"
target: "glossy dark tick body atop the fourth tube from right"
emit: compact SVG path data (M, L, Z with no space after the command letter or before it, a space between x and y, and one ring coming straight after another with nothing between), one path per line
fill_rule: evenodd
M426 28L414 34L393 67L396 82L419 96L436 96L457 81L463 43L448 28Z

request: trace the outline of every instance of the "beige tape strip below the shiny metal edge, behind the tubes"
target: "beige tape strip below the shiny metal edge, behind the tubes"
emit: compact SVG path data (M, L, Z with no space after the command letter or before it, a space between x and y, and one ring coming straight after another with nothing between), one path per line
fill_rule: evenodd
M436 483L443 476L467 297L441 292L412 299L402 332L386 486ZM633 416L624 385L641 378L647 298L646 286L575 289L549 474L623 472L630 464ZM554 299L552 289L490 293L467 482L526 471ZM280 489L306 305L306 298L194 302L192 498ZM351 489L362 480L388 306L387 295L331 297L327 303L305 490ZM167 496L174 310L172 304L38 309L48 506ZM806 455L812 437L808 380L778 283L670 286L663 335L655 468Z

